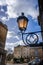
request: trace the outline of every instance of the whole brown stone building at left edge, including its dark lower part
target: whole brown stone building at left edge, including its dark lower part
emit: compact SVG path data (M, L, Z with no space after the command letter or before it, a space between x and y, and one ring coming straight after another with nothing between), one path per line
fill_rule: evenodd
M7 26L0 22L0 65L5 65L6 51L4 50L4 48L7 31Z

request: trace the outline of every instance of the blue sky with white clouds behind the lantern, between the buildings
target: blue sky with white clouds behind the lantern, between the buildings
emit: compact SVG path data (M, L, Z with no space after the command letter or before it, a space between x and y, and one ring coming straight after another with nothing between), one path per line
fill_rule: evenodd
M24 12L29 19L26 32L40 31L37 16L39 15L38 0L0 0L0 20L8 26L5 49L14 49L22 45L22 38L18 35L17 17ZM39 42L42 41L41 34L38 34Z

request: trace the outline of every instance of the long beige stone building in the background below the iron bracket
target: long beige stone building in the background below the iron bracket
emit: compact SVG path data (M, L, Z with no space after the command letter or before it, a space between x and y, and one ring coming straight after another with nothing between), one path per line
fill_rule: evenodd
M42 47L17 46L14 48L14 58L29 58L30 60L42 57Z

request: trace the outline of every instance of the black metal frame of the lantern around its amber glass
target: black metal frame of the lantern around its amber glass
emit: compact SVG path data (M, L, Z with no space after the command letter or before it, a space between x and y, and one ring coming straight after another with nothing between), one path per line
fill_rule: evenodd
M21 28L21 27L19 26L19 21L20 21L20 20L24 20L24 21L23 21L23 26L24 26L24 23L26 23L26 27L24 26L23 28ZM25 21L26 21L26 22L25 22ZM20 21L20 22L21 22L21 21ZM17 18L17 23L18 23L18 27L19 27L19 30L20 30L20 31L25 31L25 30L26 30L27 24L28 24L28 18L24 16L24 13L23 13L23 12L22 12L22 15Z

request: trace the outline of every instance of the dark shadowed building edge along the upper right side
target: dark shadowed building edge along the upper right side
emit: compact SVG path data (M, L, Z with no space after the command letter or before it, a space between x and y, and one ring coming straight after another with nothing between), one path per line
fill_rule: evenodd
M43 0L38 0L39 3L39 16L38 16L38 22L41 26L41 31L43 31ZM42 32L42 40L43 40L43 32Z

